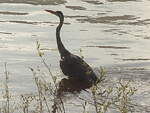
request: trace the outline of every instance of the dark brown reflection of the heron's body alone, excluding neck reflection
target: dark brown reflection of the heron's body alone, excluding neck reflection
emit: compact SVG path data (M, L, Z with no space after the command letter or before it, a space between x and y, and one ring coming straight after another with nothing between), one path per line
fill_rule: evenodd
M63 78L59 82L57 95L63 96L65 93L80 93L82 90L90 88L91 86L92 83L87 80L81 80L79 78Z

